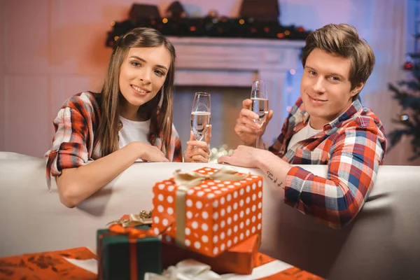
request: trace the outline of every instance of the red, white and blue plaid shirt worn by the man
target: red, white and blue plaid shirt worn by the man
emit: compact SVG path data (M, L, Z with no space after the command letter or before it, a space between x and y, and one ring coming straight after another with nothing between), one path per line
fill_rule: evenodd
M322 132L286 151L293 134L308 120L302 99L297 99L269 151L293 165L328 165L328 176L325 179L292 167L286 176L285 202L331 228L342 228L358 214L372 190L386 153L384 129L379 118L357 99L324 125Z

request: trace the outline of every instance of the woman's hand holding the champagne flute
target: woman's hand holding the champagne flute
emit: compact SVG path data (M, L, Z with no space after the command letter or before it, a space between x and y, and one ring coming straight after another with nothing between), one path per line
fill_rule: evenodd
M184 162L209 162L210 140L211 125L209 125L204 141L195 140L193 132L190 132L190 141L187 142L188 146L184 154Z

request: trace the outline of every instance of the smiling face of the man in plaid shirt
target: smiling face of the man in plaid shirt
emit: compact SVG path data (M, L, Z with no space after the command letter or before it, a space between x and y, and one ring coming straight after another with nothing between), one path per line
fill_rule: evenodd
M311 127L322 126L344 113L363 83L351 89L350 59L330 55L319 48L311 51L304 66L300 95L304 109L309 113Z

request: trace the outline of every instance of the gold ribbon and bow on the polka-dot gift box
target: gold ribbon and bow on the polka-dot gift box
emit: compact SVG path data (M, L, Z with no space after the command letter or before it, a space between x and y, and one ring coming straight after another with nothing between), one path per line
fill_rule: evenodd
M218 169L213 174L201 174L199 172L184 172L176 169L174 172L174 181L179 188L176 190L175 200L175 243L180 248L185 248L186 240L186 193L187 190L197 186L204 180L220 181L240 181L248 177L249 174L240 175L237 171L227 168Z

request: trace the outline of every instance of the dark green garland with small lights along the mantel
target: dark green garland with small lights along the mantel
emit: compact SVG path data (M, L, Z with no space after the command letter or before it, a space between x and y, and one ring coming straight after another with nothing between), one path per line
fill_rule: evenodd
M156 18L111 22L106 46L113 47L118 37L134 27L152 27L166 36L269 38L273 40L304 40L309 31L294 25L283 26L278 22L262 22L252 18Z

